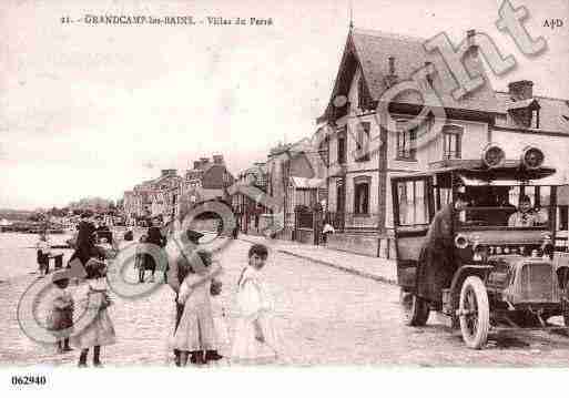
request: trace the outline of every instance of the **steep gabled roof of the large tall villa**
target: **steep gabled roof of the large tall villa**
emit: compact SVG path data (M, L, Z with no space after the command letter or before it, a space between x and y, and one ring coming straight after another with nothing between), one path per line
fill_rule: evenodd
M485 84L477 90L466 94L459 100L453 98L453 91L457 83L438 51L428 53L423 43L424 39L405 37L399 34L385 33L375 30L353 29L346 40L344 55L334 84L331 98L332 101L337 94L347 94L348 86L345 86L346 76L343 74L353 73L348 68L350 55L356 58L357 64L363 71L369 95L377 101L388 89L386 76L389 74L389 57L395 58L395 73L398 81L410 79L413 73L430 62L436 69L431 75L433 88L436 90L443 105L448 109L474 110L485 112L497 112L498 105L496 95L488 80L479 57L465 55L464 63L471 76L481 75ZM352 80L347 79L348 81ZM349 82L347 83L349 84ZM394 99L394 102L423 104L421 96L416 92L405 92ZM431 105L436 105L435 103Z

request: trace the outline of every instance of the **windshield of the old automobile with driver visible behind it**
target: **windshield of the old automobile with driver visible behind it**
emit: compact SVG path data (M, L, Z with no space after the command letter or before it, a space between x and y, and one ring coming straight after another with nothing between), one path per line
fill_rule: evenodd
M549 228L551 186L466 186L467 206L458 215L464 226Z

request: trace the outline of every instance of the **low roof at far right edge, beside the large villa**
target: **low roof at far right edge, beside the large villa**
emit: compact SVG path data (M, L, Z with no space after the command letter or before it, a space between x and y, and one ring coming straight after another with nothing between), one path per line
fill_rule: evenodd
M511 95L506 92L497 91L496 98L498 100L498 108L500 113L507 113L509 109L517 102L514 101ZM548 96L535 95L532 99L524 101L536 101L539 104L539 130L557 132L569 135L569 103L567 100L552 99ZM496 125L511 129L527 129L514 118L507 118L506 120L496 120Z

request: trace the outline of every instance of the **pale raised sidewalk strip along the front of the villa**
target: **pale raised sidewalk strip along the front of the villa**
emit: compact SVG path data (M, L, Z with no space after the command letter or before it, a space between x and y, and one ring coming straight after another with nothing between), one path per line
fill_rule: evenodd
M240 239L262 243L273 249L298 258L327 265L350 274L378 282L396 284L397 268L394 259L368 257L291 241L268 239L264 236L241 234Z

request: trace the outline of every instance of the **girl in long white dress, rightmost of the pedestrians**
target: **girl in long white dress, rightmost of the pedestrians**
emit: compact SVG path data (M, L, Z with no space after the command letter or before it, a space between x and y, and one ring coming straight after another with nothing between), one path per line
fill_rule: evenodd
M273 300L261 277L267 255L266 246L251 246L248 266L243 269L238 280L238 318L231 353L232 361L236 364L270 364L278 356Z

